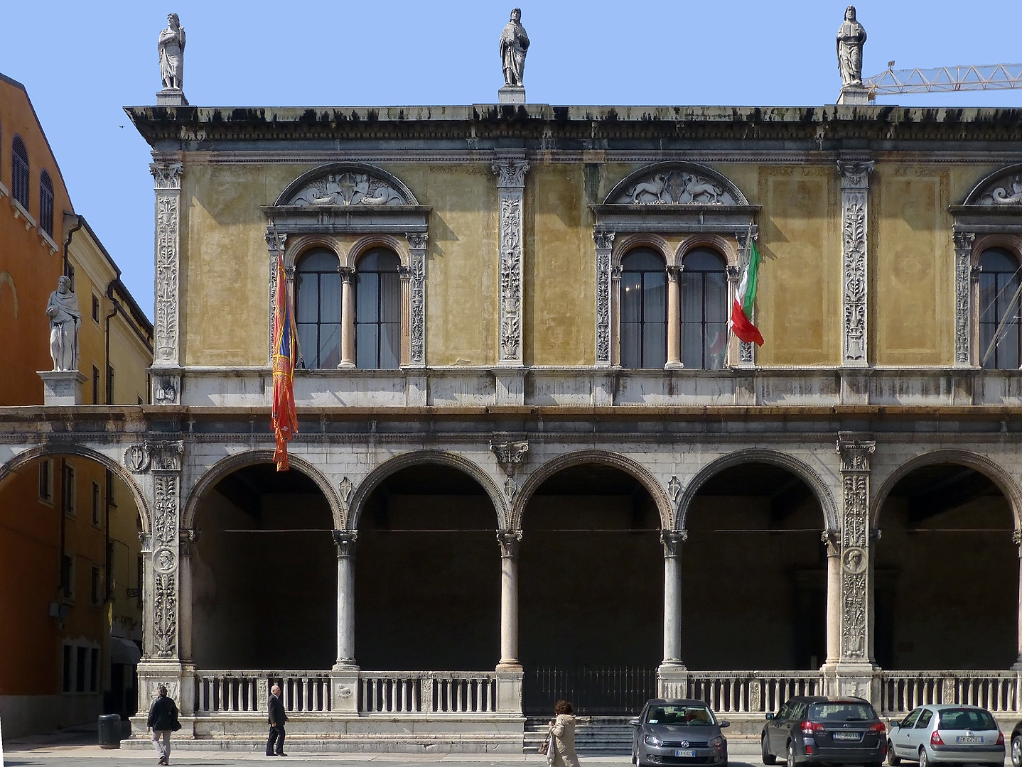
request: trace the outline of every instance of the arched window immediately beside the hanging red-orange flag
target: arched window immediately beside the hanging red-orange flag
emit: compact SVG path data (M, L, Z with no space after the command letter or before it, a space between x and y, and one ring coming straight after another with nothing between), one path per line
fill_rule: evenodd
M295 318L303 367L340 364L340 262L327 248L310 250L294 271Z

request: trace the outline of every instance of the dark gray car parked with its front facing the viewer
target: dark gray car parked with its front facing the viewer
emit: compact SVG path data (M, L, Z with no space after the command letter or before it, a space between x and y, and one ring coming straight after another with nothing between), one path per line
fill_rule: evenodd
M655 699L630 724L633 764L728 764L728 740L721 728L731 723L717 721L703 701Z

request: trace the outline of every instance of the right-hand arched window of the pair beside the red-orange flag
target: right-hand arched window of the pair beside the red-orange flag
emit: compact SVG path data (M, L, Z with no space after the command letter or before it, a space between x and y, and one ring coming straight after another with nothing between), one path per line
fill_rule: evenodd
M401 367L401 283L398 256L373 248L359 258L355 284L355 365Z

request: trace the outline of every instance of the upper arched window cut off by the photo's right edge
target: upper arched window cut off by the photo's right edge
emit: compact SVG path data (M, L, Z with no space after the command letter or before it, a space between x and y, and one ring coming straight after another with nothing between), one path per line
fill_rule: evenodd
M979 267L980 367L1018 370L1022 340L1018 258L1003 248L987 248L979 256Z

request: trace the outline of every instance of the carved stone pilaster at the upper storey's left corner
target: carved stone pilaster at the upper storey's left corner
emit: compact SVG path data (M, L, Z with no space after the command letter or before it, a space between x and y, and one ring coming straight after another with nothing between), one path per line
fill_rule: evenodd
M177 366L180 349L181 162L149 165L156 194L153 367ZM153 396L153 401L166 398Z

